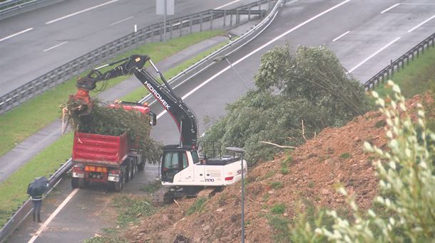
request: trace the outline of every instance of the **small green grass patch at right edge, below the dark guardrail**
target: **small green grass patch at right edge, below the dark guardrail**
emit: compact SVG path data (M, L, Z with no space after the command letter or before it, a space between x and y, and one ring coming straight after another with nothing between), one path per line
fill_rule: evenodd
M428 91L435 82L435 48L429 48L419 58L410 61L409 65L405 64L405 68L395 71L390 79L399 85L406 98ZM391 89L387 89L385 84L380 84L374 90L380 97L391 95Z

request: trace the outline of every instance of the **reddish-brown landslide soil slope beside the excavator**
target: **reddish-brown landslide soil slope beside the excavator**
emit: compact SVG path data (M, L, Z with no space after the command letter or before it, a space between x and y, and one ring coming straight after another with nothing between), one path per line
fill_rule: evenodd
M415 107L420 98L407 102ZM354 194L359 207L372 205L377 193L371 153L364 153L369 141L387 148L385 117L368 112L341 128L324 129L316 138L273 161L262 162L249 172L245 194L247 242L272 242L277 233L270 215L291 222L307 210L307 202L319 207L346 208L338 184ZM144 219L126 237L131 242L173 242L183 234L192 242L240 242L240 183L229 186L198 206L198 199L183 199L165 206L160 213ZM186 212L192 205L198 209Z

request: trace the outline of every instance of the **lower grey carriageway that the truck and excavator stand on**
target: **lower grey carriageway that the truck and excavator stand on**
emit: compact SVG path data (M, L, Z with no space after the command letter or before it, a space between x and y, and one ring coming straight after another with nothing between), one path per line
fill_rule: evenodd
M433 33L434 18L435 3L431 0L290 1L282 7L275 21L262 35L229 59L235 64L248 88L253 89L255 87L252 85L252 77L260 65L261 55L274 45L282 45L287 41L292 45L326 45L337 53L350 74L365 82L382 70L389 60L398 58ZM180 85L175 92L195 111L200 122L200 133L203 133L209 126L205 124L204 118L218 119L225 114L225 104L235 101L247 92L247 88L228 65L221 62ZM153 136L165 144L177 143L178 132L173 121L168 114L161 113L160 107L153 109L159 114ZM156 171L150 176L155 175ZM135 183L146 183L143 177L134 180ZM134 188L135 183L127 185L126 189L131 190L129 188ZM66 198L67 203L53 221L37 226L26 222L28 227L20 229L10 242L27 241L36 229L39 232L34 237L34 242L47 242L48 239L76 242L79 237L73 230L75 227L68 225L88 226L86 229L80 227L80 234L83 236L81 239L93 235L98 228L95 222L98 222L98 218L103 222L104 217L89 215L86 208L95 207L98 198L101 200L107 195L96 195L98 188L71 190L66 185L61 185L61 188L58 201ZM47 205L46 208L49 212L54 205ZM58 227L59 225L62 227ZM103 227L107 225L115 224L108 222Z

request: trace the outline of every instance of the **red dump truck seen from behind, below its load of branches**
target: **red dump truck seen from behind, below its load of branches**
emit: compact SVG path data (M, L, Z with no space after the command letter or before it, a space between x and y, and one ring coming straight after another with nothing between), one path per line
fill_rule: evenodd
M106 183L116 192L131 180L137 170L143 170L143 158L137 143L128 134L107 136L76 132L73 144L71 185L84 188L89 182Z

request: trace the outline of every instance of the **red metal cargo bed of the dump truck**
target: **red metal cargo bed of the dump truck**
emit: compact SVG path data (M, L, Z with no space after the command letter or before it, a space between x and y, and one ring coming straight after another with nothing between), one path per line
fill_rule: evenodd
M128 152L128 138L101 134L74 133L73 161L119 166Z

